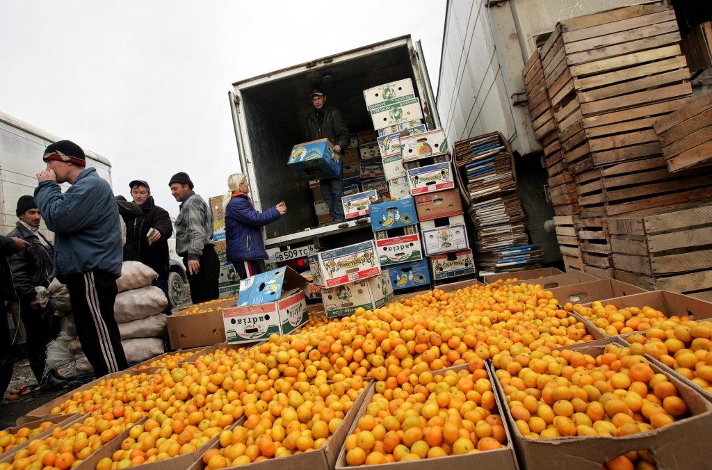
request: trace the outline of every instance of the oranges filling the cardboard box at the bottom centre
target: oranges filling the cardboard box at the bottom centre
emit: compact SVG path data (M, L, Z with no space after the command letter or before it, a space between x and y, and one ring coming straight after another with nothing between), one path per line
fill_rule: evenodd
M426 371L412 392L398 387L387 395L373 395L347 437L348 465L432 459L506 445L492 384L483 368Z

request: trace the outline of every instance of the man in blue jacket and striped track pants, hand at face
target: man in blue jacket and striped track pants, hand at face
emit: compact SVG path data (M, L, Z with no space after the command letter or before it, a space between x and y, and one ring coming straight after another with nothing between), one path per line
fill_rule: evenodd
M86 168L84 151L69 140L46 148L35 202L55 233L54 268L66 284L82 350L97 377L127 367L114 319L123 249L119 211L109 183ZM60 183L71 187L62 193Z

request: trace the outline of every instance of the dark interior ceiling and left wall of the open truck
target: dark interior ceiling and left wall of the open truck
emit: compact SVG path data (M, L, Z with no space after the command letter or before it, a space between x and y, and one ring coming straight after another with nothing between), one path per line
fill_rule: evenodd
M305 120L313 110L310 93L322 88L327 105L337 108L350 132L373 129L363 90L411 78L414 66L407 45L383 51L341 54L335 60L298 66L283 78L265 76L236 83L246 118L251 160L261 210L286 201L288 212L266 227L268 238L318 225L308 182L287 166L290 150L305 142ZM281 73L276 73L281 74ZM418 92L416 91L418 94ZM305 221L311 224L305 226Z

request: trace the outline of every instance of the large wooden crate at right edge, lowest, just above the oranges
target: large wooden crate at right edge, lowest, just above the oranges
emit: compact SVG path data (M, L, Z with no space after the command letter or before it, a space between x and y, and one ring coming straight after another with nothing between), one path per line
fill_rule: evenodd
M649 289L712 290L712 204L608 220L615 278Z

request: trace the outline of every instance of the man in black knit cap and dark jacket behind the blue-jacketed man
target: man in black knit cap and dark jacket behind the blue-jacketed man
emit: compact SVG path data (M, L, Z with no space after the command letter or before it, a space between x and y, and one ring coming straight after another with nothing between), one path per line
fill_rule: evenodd
M38 230L41 216L33 197L20 197L16 214L20 220L8 236L30 244L29 249L10 258L15 291L19 298L20 318L27 335L27 359L42 389L57 390L67 385L67 382L56 380L49 371L45 372L47 345L54 339L54 310L50 305L42 307L35 290L38 286L47 288L54 277L54 246Z

